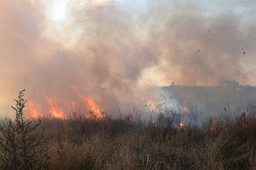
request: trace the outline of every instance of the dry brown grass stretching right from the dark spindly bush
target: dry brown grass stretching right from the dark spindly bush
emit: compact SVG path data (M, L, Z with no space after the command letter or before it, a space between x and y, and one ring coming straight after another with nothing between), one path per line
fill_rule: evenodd
M209 118L200 127L170 119L44 119L54 136L49 169L255 169L255 114L225 124Z

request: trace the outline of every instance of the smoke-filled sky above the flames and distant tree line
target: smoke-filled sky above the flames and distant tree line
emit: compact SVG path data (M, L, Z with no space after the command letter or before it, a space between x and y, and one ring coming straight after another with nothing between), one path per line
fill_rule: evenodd
M255 30L254 0L0 0L0 115L21 89L43 111L72 86L106 110L172 81L256 86Z

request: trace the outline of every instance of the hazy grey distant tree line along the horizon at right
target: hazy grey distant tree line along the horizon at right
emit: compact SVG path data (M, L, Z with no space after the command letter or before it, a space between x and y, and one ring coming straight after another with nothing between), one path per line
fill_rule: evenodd
M240 98L256 98L255 86L240 86L237 81L221 81L218 86L181 86L175 85L161 87L166 93L181 100L223 100L232 101Z

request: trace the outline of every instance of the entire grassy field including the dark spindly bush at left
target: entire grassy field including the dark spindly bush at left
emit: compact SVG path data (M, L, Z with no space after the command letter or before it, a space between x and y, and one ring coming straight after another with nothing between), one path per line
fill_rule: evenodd
M15 121L0 124L1 169L256 168L255 107L236 114L225 108L200 124L191 123L187 107L163 109L154 120L136 119L132 107L120 119L91 111L29 120L23 91L15 101Z

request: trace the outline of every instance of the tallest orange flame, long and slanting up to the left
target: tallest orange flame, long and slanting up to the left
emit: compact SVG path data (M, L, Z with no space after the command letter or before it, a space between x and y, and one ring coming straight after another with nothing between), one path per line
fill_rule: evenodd
M74 86L73 89L75 91L75 94L77 94L82 101L85 101L87 103L87 105L90 107L90 111L93 114L95 114L96 118L99 118L99 119L104 118L104 116L102 115L102 113L100 111L99 106L97 106L97 104L93 101L92 98L82 96L80 94L80 92L78 91L78 87L76 87L76 86Z

